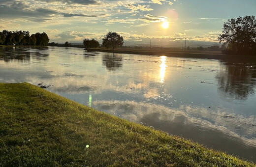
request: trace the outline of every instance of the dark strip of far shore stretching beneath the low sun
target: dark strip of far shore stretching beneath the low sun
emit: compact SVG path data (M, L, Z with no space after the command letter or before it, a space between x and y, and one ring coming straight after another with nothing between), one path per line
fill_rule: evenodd
M88 52L108 52L119 54L136 54L136 55L153 55L153 56L169 56L169 57L186 57L186 58L208 58L208 59L252 59L255 56L247 55L224 55L221 51L139 51L139 50L122 50L122 49L101 49L86 48Z

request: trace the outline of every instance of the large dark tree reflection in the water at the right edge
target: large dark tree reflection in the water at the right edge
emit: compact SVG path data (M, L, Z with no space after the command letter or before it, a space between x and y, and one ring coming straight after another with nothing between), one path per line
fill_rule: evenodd
M218 89L224 96L244 100L255 93L256 61L222 62L223 68L216 75Z

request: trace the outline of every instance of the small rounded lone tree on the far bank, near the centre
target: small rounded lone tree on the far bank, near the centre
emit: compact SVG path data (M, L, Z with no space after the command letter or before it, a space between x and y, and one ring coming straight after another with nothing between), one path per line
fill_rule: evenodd
M107 35L102 39L102 46L106 48L121 47L124 44L124 38L116 32L108 32Z

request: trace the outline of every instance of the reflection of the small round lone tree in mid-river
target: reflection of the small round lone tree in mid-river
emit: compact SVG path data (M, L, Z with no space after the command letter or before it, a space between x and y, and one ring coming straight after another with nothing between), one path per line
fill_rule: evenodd
M114 53L107 53L102 56L102 64L107 67L109 71L123 66L123 56Z

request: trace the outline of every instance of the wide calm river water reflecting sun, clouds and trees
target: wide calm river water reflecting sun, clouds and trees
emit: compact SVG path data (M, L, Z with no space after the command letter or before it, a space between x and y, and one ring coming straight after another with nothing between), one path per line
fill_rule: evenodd
M0 82L49 85L97 110L256 162L255 61L0 48Z

